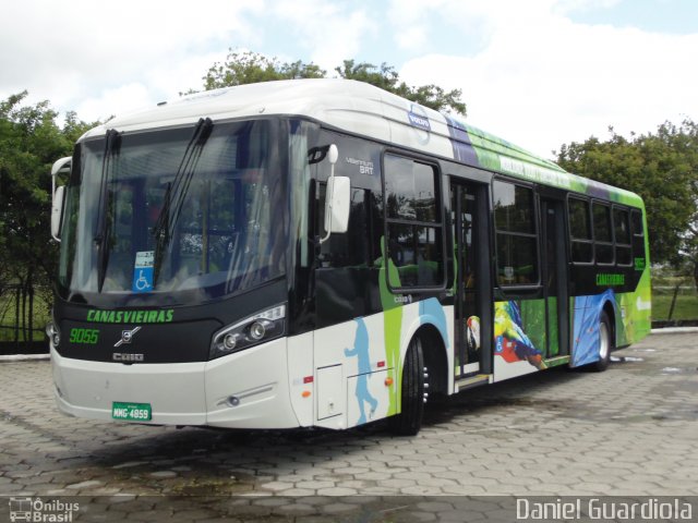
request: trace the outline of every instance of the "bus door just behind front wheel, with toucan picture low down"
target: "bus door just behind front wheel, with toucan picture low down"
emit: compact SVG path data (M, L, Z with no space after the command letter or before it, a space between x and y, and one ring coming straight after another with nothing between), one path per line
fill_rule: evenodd
M453 179L455 378L491 374L486 186ZM484 315L483 315L484 314Z

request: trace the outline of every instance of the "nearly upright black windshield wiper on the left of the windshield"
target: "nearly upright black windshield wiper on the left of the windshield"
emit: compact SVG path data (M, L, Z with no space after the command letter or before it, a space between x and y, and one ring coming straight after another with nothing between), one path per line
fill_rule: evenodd
M101 159L101 178L99 182L99 206L97 207L97 233L95 243L97 244L97 291L101 292L107 276L107 265L109 264L109 247L111 235L111 217L109 212L109 183L111 180L112 156L119 154L121 148L121 133L110 129L105 136L105 154Z

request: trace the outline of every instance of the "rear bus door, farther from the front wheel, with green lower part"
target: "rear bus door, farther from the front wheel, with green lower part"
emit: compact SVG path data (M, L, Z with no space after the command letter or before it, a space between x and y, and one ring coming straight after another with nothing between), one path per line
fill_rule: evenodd
M567 277L567 245L565 206L562 199L541 197L541 229L543 235L542 280L545 297L547 340L545 357L569 354L569 291Z

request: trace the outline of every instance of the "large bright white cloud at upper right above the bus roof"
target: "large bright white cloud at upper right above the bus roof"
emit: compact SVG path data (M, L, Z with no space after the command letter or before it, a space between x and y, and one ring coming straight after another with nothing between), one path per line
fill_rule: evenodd
M513 10L501 16L493 3ZM449 14L466 24L468 16L485 16L486 47L472 57L417 58L400 74L412 84L462 89L474 125L549 157L609 125L642 133L666 119L698 115L698 34L575 24L555 12L553 0L478 2L477 12L464 5L470 3Z

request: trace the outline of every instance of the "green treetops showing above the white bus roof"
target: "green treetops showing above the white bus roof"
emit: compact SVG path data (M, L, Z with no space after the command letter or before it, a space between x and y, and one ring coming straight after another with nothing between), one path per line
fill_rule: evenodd
M385 63L376 66L371 63L345 60L341 66L335 69L335 72L342 78L375 85L437 111L466 115L466 104L460 99L462 96L460 89L446 92L433 84L410 87L400 81L395 68ZM327 77L327 71L320 69L314 63L303 63L300 60L282 63L275 58L269 59L256 52L231 50L225 62L216 62L210 66L203 81L204 89L210 90L275 80L324 77ZM188 92L188 94L191 93L195 93L195 90Z

